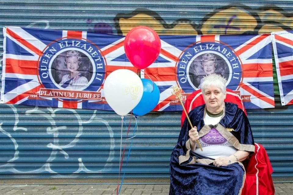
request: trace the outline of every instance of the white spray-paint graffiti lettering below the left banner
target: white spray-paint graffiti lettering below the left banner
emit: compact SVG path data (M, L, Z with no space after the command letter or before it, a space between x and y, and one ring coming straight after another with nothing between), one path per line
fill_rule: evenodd
M9 105L9 108L11 108L13 110L14 117L15 117L15 123L13 126L13 130L14 131L19 131L19 130L29 131L29 129L27 129L27 128L18 126L18 123L20 120L19 120L19 114L17 113L17 108L13 105ZM76 110L74 110L74 109L51 108L51 107L48 107L46 109L48 110L48 112L44 112L44 111L40 110L38 108L38 106L36 106L33 109L27 110L25 112L25 115L27 115L27 116L33 116L33 114L37 113L37 114L40 114L41 116L43 116L45 119L48 119L50 126L47 127L46 132L48 134L53 135L53 142L47 144L47 147L52 149L49 158L46 160L44 165L42 165L42 167L37 168L35 170L26 171L26 173L49 172L49 173L55 173L54 175L52 175L50 177L60 178L60 174L58 174L58 172L52 170L51 162L53 162L56 159L56 155L58 154L58 152L63 154L65 159L68 159L69 154L65 151L65 149L66 148L74 148L74 146L79 141L79 137L83 134L83 124L90 124L92 122L99 122L99 123L104 124L107 127L108 133L110 135L110 137L109 137L110 138L110 148L109 148L108 158L105 161L105 165L103 166L102 169L90 170L89 168L86 168L86 166L82 162L82 158L80 157L80 158L78 158L78 166L79 166L78 170L75 172L72 172L72 174L70 174L69 176L70 177L78 177L78 174L76 174L76 173L79 173L79 172L99 173L99 172L105 172L105 171L109 170L109 167L112 165L112 160L114 158L114 150L113 150L114 149L114 133L106 120L101 119L101 118L97 118L96 111L93 111L90 119L83 121L81 119L81 115L78 114L78 112L76 112ZM54 117L56 116L56 112L58 112L58 111L72 112L78 121L78 124L75 125L75 126L78 126L78 133L75 135L74 139L69 144L62 145L59 143L59 139L58 139L59 131L67 129L67 126L57 126L56 125L56 121L55 121ZM0 123L0 132L5 134L7 137L10 138L10 140L12 140L12 142L14 144L15 154L12 159L7 161L6 164L1 165L0 169L5 168L5 171L14 172L14 173L23 172L23 171L18 170L17 167L14 167L14 164L13 164L13 162L19 158L19 156L18 156L19 155L19 145L17 144L17 141L13 138L13 136L10 133L8 133L4 129L2 129L2 124L3 123Z

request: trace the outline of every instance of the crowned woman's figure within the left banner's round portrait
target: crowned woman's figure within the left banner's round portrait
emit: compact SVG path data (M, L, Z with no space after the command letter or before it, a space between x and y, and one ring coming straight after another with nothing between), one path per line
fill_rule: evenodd
M66 74L62 77L59 85L69 90L77 90L88 84L88 80L79 71L81 66L81 55L78 51L67 51L65 56L65 66L70 71L70 74Z

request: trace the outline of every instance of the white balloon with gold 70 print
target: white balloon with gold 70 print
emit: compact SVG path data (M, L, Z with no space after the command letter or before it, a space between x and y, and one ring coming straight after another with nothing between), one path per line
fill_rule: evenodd
M139 76L127 69L118 69L107 76L104 83L105 99L121 116L127 115L143 96L143 83Z

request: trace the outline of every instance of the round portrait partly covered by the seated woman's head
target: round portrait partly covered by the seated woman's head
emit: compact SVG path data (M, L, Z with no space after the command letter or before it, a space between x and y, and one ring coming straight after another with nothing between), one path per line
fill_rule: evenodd
M219 74L225 78L229 76L228 65L219 55L205 53L191 62L189 78L194 87L201 88L203 77L210 74Z

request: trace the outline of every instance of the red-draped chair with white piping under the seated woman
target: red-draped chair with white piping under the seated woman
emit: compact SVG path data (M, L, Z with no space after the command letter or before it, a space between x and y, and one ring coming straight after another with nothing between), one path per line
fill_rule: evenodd
M226 89L227 94L225 102L231 102L238 105L246 114L241 98L230 89ZM194 91L185 101L184 108L189 113L193 108L203 105L204 98L201 90ZM247 115L247 114L246 114ZM183 125L186 115L184 111L181 115L181 126ZM265 148L261 144L255 143L255 152L251 155L250 161L245 166L246 178L241 195L274 195L275 189L271 174L273 173L272 165Z

